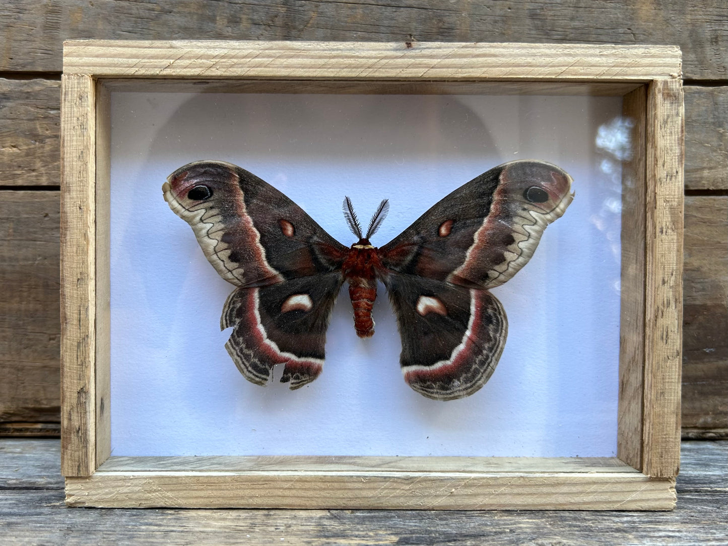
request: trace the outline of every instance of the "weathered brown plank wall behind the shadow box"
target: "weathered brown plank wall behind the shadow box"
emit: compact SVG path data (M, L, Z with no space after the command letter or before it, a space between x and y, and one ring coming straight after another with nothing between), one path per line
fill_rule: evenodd
M66 39L677 44L685 84L683 434L728 438L728 4L703 0L6 0L0 435L58 435Z

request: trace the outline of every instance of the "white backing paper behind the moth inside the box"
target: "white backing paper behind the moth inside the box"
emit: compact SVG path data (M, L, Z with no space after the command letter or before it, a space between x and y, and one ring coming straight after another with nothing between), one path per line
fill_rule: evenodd
M114 92L112 454L614 456L620 115L621 98ZM513 159L562 167L576 197L493 290L508 338L475 395L443 403L405 384L381 285L373 338L357 338L344 285L323 373L290 391L279 369L258 387L235 368L219 331L234 287L162 198L201 159L258 175L347 246L344 195L363 223L389 198L376 246Z

